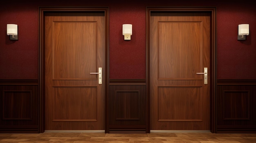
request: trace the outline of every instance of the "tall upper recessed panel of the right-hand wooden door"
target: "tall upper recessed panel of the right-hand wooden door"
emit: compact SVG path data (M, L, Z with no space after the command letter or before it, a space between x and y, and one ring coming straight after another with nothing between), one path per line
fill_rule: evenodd
M202 22L159 21L158 26L158 78L198 79L200 75L195 73L202 67Z

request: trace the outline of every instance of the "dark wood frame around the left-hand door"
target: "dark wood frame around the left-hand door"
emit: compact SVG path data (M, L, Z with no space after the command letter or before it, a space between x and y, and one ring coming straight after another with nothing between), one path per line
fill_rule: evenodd
M38 108L39 108L39 132L45 132L45 45L44 45L44 18L46 12L83 12L104 11L106 23L106 97L109 85L109 8L108 7L39 7L39 45L38 45ZM107 102L107 100L106 100ZM106 111L105 111L106 114ZM106 120L107 121L107 120ZM105 129L106 130L106 129Z

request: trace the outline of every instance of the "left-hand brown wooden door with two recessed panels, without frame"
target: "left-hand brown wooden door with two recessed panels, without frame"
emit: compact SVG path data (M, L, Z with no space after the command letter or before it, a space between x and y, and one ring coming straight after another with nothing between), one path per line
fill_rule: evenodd
M104 130L105 13L45 13L44 25L45 130Z

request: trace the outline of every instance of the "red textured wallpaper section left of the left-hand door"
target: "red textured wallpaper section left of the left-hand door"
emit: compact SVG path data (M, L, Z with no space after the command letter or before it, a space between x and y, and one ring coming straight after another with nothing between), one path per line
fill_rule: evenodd
M18 24L18 41L7 24ZM38 7L0 4L0 79L38 78Z

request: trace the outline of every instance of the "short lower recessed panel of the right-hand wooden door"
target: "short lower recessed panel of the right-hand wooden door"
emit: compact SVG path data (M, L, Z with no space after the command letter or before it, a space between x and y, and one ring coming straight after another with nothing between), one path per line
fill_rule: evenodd
M201 91L200 87L158 87L158 121L202 121Z

